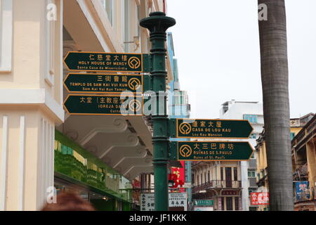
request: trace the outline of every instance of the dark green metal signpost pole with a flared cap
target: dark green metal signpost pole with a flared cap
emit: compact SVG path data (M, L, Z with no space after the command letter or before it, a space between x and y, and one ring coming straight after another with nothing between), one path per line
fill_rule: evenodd
M169 118L166 115L166 30L176 24L176 20L167 17L165 13L154 12L150 16L140 20L140 26L150 30L150 49L152 57L152 91L156 100L156 109L152 113L154 134L152 143L154 146L154 210L168 211L168 148L169 148ZM163 95L163 96L162 96ZM161 96L159 98L159 96ZM158 100L164 99L163 103ZM154 102L154 101L153 101ZM152 105L153 106L153 105Z

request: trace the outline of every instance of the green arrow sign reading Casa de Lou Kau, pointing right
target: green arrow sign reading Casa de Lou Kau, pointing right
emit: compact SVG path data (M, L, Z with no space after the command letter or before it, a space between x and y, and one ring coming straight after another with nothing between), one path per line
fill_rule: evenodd
M171 137L199 139L248 139L253 128L248 120L171 119Z

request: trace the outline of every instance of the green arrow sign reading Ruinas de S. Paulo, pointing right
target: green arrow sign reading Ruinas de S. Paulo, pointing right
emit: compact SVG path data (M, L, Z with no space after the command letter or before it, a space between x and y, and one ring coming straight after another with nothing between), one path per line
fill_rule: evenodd
M171 160L246 161L253 153L246 141L171 141Z

